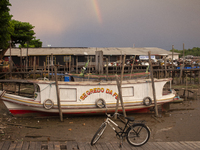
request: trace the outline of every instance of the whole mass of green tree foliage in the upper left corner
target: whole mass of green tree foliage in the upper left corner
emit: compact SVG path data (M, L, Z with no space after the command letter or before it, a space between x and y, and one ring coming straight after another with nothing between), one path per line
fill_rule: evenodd
M9 14L9 0L0 1L0 60L11 46L16 47L42 47L40 39L36 39L35 32L28 22L20 22L12 20L12 15Z

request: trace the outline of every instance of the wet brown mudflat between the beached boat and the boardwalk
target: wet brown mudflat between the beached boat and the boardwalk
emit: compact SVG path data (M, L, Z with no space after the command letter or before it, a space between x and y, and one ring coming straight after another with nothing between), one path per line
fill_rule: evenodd
M170 104L170 110L154 114L134 114L136 120L146 120L151 129L150 141L200 141L200 97ZM0 102L0 140L12 141L78 141L90 142L105 120L101 116L59 116L53 118L16 118ZM100 141L117 140L108 127Z

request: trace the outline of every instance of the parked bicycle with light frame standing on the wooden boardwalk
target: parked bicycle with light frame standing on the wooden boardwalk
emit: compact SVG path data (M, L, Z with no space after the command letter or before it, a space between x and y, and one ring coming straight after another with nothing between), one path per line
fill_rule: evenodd
M115 113L113 116L107 114L107 119L100 128L97 130L95 135L91 140L91 145L95 145L96 142L103 135L107 125L109 125L116 133L116 136L121 139L120 147L122 146L123 139L126 137L128 143L132 146L139 147L148 142L150 138L150 129L148 126L144 124L144 121L139 123L135 123L135 119L133 117L124 117L125 121L121 118L123 115L119 113ZM124 128L119 127L119 125L112 120L112 118L117 115L117 118L125 124ZM118 132L115 127L116 126L120 131Z

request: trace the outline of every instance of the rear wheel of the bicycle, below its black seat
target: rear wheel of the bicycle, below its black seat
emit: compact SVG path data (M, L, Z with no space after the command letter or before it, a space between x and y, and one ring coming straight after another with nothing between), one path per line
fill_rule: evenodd
M133 146L142 146L150 138L150 130L144 124L135 124L127 129L126 139Z

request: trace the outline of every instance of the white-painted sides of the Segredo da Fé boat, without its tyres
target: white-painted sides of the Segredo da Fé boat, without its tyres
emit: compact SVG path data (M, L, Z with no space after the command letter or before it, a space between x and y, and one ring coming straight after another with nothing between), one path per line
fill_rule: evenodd
M149 81L149 80L148 80ZM155 85L163 88L169 81L157 80ZM38 84L40 91L37 97L27 98L23 96L5 93L1 99L13 115L54 115L59 113L55 84L50 82L34 81ZM124 82L123 82L124 83ZM51 86L49 86L51 84ZM3 91L0 91L2 93ZM114 112L118 96L115 83L59 83L59 94L61 111L63 114L100 114L105 113L106 108L96 105L98 99L103 99L108 112ZM162 90L156 88L157 104L161 105L173 101L175 93L163 95ZM159 93L158 93L159 92ZM122 84L122 95L126 111L143 111L154 106L151 83L142 81L126 82ZM152 104L145 105L144 97L150 97ZM45 108L45 100L50 99L53 105L50 109ZM119 104L119 111L122 108Z

